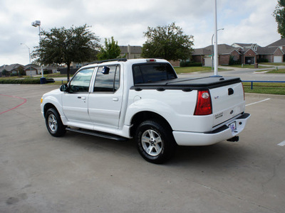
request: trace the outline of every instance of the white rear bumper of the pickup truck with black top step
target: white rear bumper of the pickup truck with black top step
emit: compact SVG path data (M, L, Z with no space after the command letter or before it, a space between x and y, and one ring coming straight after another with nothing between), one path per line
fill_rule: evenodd
M175 141L180 146L208 146L220 141L225 141L229 138L237 136L244 130L244 126L249 121L250 114L242 114L237 119L229 121L219 129L215 129L211 132L198 133L198 132L187 132L187 131L173 131ZM237 129L232 131L229 128L229 124L236 121Z

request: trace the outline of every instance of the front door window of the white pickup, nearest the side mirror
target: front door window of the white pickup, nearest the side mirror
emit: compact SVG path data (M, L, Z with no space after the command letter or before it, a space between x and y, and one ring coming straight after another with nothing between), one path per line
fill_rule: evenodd
M69 84L70 92L88 92L94 68L77 72Z

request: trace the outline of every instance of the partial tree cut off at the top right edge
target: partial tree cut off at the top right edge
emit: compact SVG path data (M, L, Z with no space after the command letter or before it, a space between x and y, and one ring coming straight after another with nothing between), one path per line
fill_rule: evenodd
M285 38L285 0L278 0L273 16L278 24L278 33L281 35L281 38Z

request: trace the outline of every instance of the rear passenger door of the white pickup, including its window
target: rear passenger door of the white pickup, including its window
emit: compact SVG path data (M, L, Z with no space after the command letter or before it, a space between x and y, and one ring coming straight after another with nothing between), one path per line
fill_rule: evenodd
M123 100L120 75L120 65L98 67L88 102L90 119L95 126L118 129Z

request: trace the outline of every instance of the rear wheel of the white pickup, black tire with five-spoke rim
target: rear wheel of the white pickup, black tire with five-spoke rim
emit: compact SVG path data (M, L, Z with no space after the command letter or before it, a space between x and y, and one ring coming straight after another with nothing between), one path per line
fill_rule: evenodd
M168 125L144 121L135 133L138 152L150 163L165 163L175 153L176 143Z

